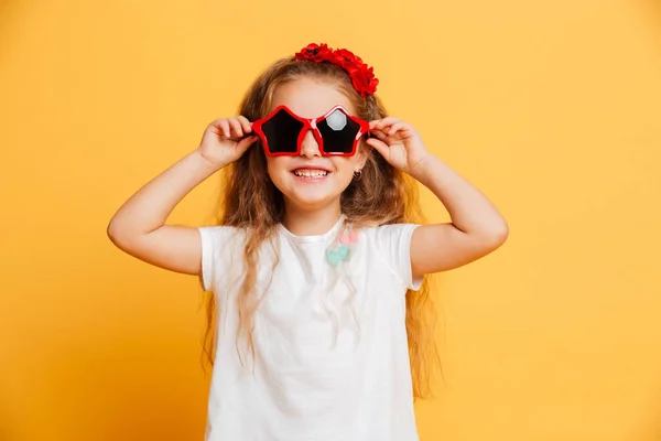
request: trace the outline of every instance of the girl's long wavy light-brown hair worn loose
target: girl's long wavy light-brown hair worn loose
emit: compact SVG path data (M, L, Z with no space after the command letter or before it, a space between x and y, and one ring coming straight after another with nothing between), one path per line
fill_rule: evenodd
M343 92L354 104L356 116L366 120L387 116L381 101L373 95L361 98L349 76L329 63L283 58L271 65L247 92L239 114L254 121L268 114L275 88L286 82L312 77L327 82ZM260 248L273 237L275 226L284 215L282 193L268 179L267 159L259 143L224 170L223 193L217 224L245 228L246 275L238 294L239 336L246 337L252 349L252 314L258 308L253 291L258 273ZM360 180L354 180L340 197L342 213L356 226L421 223L416 183L390 165L376 150L368 154ZM216 297L207 293L207 330L204 353L215 361ZM418 291L407 292L407 332L413 379L413 395L430 395L431 375L438 362L434 344L435 310L430 297L430 280L425 277Z

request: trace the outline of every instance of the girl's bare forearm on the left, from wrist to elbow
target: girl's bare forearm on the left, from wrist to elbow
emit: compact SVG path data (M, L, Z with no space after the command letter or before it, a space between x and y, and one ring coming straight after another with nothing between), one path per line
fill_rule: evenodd
M147 235L160 228L184 196L217 170L197 151L188 153L119 208L108 226L109 235Z

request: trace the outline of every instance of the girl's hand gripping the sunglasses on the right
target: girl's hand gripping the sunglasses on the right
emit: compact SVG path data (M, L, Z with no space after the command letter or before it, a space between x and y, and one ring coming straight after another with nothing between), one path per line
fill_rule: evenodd
M430 154L418 131L398 118L370 121L369 129L376 138L368 138L366 142L377 149L390 165L411 175Z

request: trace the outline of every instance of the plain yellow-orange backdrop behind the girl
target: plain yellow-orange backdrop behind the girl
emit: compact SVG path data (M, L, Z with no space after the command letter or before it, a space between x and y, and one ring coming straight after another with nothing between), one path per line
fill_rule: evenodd
M422 441L661 440L658 0L1 1L0 440L203 439L197 280L106 224L313 41L510 224L441 279Z

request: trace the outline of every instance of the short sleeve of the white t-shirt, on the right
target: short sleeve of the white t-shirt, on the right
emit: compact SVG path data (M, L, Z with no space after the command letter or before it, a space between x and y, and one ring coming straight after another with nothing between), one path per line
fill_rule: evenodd
M376 228L375 241L386 263L402 283L414 291L422 286L422 278L413 280L411 269L411 237L418 224L382 225Z

